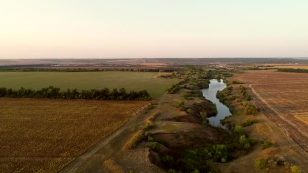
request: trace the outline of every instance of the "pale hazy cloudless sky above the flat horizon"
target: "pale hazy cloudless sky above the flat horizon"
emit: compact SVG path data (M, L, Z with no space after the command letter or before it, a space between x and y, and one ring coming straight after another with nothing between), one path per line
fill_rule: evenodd
M0 0L0 59L308 57L306 0Z

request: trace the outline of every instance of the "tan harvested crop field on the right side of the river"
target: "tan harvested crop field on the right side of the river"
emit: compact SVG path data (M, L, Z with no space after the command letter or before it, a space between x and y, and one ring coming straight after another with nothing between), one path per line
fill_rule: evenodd
M256 70L230 79L245 82L263 113L308 151L308 74Z

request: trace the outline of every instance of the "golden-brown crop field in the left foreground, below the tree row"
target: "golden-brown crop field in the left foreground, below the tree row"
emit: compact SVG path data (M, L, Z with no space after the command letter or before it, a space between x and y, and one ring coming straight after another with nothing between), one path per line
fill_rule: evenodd
M0 172L57 172L147 103L0 98Z

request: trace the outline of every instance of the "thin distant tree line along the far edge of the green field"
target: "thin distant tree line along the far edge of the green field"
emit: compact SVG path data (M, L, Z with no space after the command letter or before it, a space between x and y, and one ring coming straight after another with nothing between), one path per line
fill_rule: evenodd
M140 68L0 68L0 71L51 71L51 72L91 72L91 71L141 71L141 72L173 72L175 69L140 69Z

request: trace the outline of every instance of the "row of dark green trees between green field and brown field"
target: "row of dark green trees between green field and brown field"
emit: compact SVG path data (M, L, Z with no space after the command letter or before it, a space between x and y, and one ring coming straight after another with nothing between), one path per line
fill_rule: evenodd
M30 90L21 88L20 90L13 90L7 88L0 88L0 97L9 98L50 98L50 99L92 99L92 100L150 100L151 97L146 90L139 92L130 91L126 92L124 88L102 90L82 90L79 92L77 89L67 89L61 91L60 88L49 86L41 90Z

